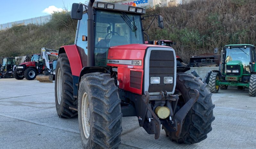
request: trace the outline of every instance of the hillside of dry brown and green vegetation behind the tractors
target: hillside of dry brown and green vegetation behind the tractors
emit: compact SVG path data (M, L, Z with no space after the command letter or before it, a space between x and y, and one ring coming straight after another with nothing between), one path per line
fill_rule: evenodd
M146 31L150 40L173 40L177 55L188 61L192 55L212 53L226 44L256 44L255 0L196 0L177 7L147 10L162 14L165 29L157 21ZM66 12L54 13L43 26L16 26L0 31L0 57L40 52L41 47L58 49L73 44L76 21ZM144 28L152 18L143 20ZM145 38L146 39L146 38Z

